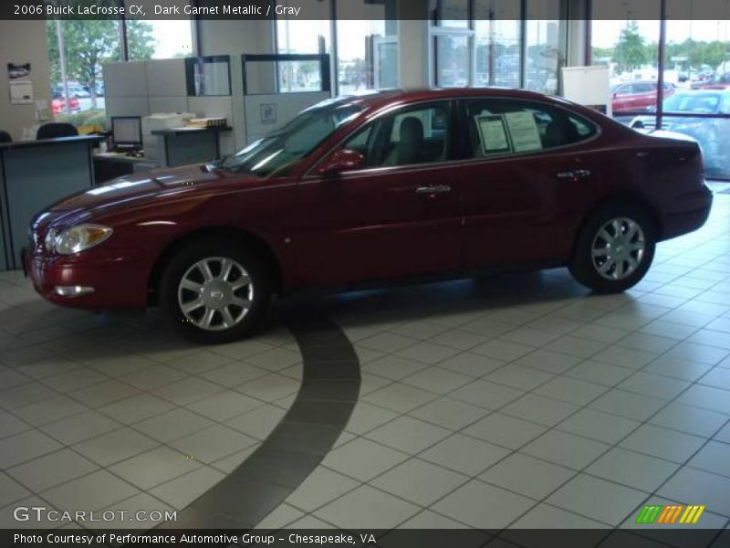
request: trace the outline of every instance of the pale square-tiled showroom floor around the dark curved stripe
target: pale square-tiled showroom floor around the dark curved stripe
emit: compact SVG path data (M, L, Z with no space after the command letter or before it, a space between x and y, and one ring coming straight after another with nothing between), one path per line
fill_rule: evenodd
M728 527L730 195L621 295L556 269L291 301L276 314L312 306L347 335L360 395L260 527L631 528L670 502ZM0 311L0 527L19 505L182 511L269 444L308 376L288 321L196 347L154 313L53 307L19 272Z

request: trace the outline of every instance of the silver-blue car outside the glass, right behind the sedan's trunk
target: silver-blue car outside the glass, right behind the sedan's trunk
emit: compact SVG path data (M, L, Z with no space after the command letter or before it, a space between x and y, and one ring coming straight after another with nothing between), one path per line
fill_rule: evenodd
M730 178L730 89L685 90L662 104L662 130L683 133L700 143L705 174L711 178ZM699 116L697 116L699 115ZM634 129L653 130L654 116L637 116Z

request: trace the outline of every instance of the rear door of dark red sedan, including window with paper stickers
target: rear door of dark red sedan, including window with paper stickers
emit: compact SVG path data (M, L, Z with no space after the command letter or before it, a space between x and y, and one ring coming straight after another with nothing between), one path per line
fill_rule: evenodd
M537 101L464 100L460 112L465 267L564 261L598 192L603 160L581 146L598 128Z

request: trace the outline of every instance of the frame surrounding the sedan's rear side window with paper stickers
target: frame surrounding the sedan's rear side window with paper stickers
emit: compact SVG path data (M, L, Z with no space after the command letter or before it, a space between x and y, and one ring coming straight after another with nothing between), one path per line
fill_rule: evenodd
M524 151L519 153L495 153L490 154L488 156L484 157L475 157L471 151L471 143L469 140L469 132L468 132L468 116L466 112L466 103L468 101L472 100L506 100L506 101L512 101L517 103L525 103L525 104L535 104L537 106L547 107L548 114L549 111L558 111L565 114L567 118L570 116L573 116L574 118L579 119L579 121L582 121L589 126L593 127L595 129L595 132L589 136L588 139L582 139L578 142L569 142L568 144L561 144L559 146L553 146L550 148L543 148L536 151ZM468 96L468 97L460 97L457 101L456 105L456 111L458 115L458 128L459 131L457 132L457 135L459 137L459 140L461 142L460 146L460 155L462 156L462 163L484 163L484 162L491 162L491 161L504 161L504 160L510 160L513 158L523 158L523 157L532 157L532 156L538 156L540 154L554 154L554 153L563 153L564 151L567 151L568 149L575 148L581 145L584 145L588 142L593 142L596 139L600 137L600 135L603 132L603 128L600 126L600 124L596 123L595 121L589 120L589 118L582 116L578 112L571 111L568 108L562 106L562 105L556 105L552 103L545 103L538 100L530 100L530 99L516 99L514 97L506 97L504 95L495 95L495 96Z

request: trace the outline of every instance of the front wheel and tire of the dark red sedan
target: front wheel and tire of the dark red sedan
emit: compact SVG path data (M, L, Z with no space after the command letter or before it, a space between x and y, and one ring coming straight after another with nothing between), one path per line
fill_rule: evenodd
M214 238L195 240L175 253L162 273L162 311L193 342L242 339L255 332L268 311L266 267L244 247Z

